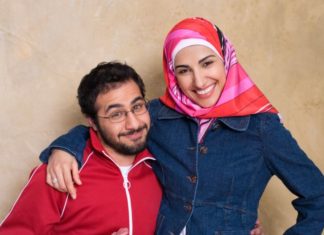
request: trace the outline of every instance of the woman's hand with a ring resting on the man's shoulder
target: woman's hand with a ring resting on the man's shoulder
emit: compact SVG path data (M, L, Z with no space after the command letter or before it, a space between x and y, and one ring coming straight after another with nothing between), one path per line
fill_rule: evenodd
M46 182L61 192L68 192L76 199L74 183L81 185L82 182L75 158L63 150L53 150L48 160Z

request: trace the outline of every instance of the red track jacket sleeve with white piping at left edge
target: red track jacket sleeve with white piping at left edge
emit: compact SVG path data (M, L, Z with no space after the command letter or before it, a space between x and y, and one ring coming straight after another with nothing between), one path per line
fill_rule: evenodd
M35 168L0 225L0 234L55 234L68 198L45 183L46 165Z

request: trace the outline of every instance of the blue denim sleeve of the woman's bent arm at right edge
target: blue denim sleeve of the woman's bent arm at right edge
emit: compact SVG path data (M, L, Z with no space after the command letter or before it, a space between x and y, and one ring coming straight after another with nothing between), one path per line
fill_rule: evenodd
M264 158L273 174L298 196L297 223L285 235L320 235L324 228L324 177L275 115L261 122Z

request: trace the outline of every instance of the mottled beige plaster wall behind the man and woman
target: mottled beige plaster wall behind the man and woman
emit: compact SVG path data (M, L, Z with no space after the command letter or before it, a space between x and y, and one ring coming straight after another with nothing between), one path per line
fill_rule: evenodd
M245 69L324 170L322 0L2 0L1 218L39 152L83 121L75 99L81 76L98 62L125 60L143 76L149 97L161 95L164 36L188 16L206 17L229 36ZM260 208L267 234L294 223L293 198L271 181Z

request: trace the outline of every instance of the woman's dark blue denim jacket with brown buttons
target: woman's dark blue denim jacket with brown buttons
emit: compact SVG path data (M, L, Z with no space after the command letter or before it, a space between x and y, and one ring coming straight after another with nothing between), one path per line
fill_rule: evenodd
M320 235L324 228L324 177L276 114L218 118L198 143L198 124L150 103L148 148L164 192L156 234L246 235L257 219L260 197L273 175L298 196L297 222L286 235ZM43 151L61 148L81 164L88 129L76 127Z

